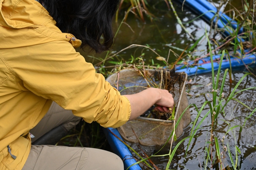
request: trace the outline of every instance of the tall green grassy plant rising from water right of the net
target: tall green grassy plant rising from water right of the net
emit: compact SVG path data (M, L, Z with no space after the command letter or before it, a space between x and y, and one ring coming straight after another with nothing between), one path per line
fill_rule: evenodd
M207 37L208 39L208 37ZM224 145L224 139L225 139L225 136L223 136L223 139L221 139L221 142L222 142L222 146L223 146L223 151L221 151L220 147L219 147L219 143L218 143L218 138L217 137L214 137L214 134L213 134L213 131L214 131L214 128L213 128L213 125L215 124L216 120L218 119L218 114L223 112L223 109L225 108L225 106L227 105L227 103L229 103L230 100L236 100L238 101L236 98L234 98L234 96L238 93L241 93L242 91L244 90L250 90L250 89L255 89L256 87L251 87L251 88L246 88L246 89L243 89L243 90L240 90L238 92L236 92L236 89L237 87L240 85L240 83L242 82L242 80L249 74L249 73L245 73L244 76L242 76L242 78L237 82L237 85L232 89L231 93L229 94L229 96L225 97L224 98L224 93L223 93L223 88L224 88L224 83L225 83L225 80L226 80L226 76L227 76L227 72L230 71L229 69L226 69L225 72L224 72L224 75L223 75L223 80L222 80L222 84L221 86L219 87L219 77L220 77L220 71L221 71L221 63L222 63L222 60L223 60L223 57L224 55L226 54L226 51L223 51L222 52L222 55L221 55L221 58L220 58L220 61L219 61L219 69L218 69L218 72L217 72L217 76L216 76L216 79L215 79L215 72L214 72L214 67L213 67L213 55L212 55L212 52L211 52L211 44L210 44L210 41L208 39L208 45L210 47L210 57L211 57L211 64L212 64L212 90L211 92L209 93L212 93L212 98L210 98L210 95L207 93L207 97L210 98L210 102L209 101L206 101L204 102L204 105L201 107L204 108L204 106L206 104L209 105L210 107L210 110L206 113L206 115L203 117L203 119L200 121L200 123L197 125L197 127L195 128L194 130L194 125L200 115L200 112L198 112L197 114L197 117L196 117L196 120L194 121L193 123L193 127L192 127L192 130L191 130L191 135L190 135L190 138L189 138L189 144L191 143L193 137L195 136L197 130L199 130L200 128L200 124L202 123L202 121L204 121L204 119L206 119L206 117L208 116L208 114L210 113L211 114L211 136L210 136L210 144L209 144L209 147L207 148L206 146L206 153L207 155L205 156L206 157L206 160L205 160L205 166L204 167L207 167L206 164L208 162L208 160L210 160L212 163L214 163L214 158L212 157L212 154L213 154L213 147L214 147L214 144L215 144L215 151L216 151L216 159L218 159L218 162L220 163L220 168L221 169L225 169L224 168L224 158L225 158L225 152L227 150L229 150L229 147L226 147ZM231 66L230 66L231 67ZM231 77L230 77L231 78ZM219 96L217 96L219 92ZM242 104L242 102L238 101L239 103ZM243 104L244 105L244 104ZM246 106L247 108L249 108L248 106ZM251 115L256 111L256 108L252 111ZM246 119L247 120L247 119ZM245 120L245 121L246 121ZM231 127L227 132L226 134L236 128L236 127L240 127L239 125L236 125L236 126L233 126ZM188 145L189 145L188 144ZM188 147L187 147L187 151L188 151ZM186 152L187 152L186 151ZM236 155L237 155L237 151L239 151L239 148L236 146ZM211 155L211 157L209 157L209 155ZM236 156L236 164L234 165L234 161L233 161L233 158L231 157L231 154L230 154L230 150L229 150L229 156L230 156L230 159L232 159L232 166L233 167L236 167L237 165L237 156ZM236 169L236 168L234 168Z

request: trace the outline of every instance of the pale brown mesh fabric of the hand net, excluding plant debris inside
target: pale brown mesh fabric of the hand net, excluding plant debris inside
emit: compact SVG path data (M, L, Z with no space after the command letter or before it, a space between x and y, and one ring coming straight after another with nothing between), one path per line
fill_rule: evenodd
M156 70L147 70L147 74L154 75ZM177 122L182 112L188 107L188 100L185 94L185 81L187 74L182 74L181 81L174 85L172 92L174 103L176 104L176 111L174 120ZM117 88L122 95L138 93L148 87L153 82L145 80L141 73L134 69L121 70L119 73L112 74L107 78L110 84ZM152 80L153 81L153 80ZM159 82L154 82L159 83ZM176 137L182 135L183 128L185 128L191 121L189 109L187 109L181 117L180 123L175 129ZM144 146L162 145L167 142L169 136L173 131L173 120L159 120L147 117L138 117L135 120L128 121L118 128L121 136L134 143L140 143ZM171 140L169 140L169 143Z

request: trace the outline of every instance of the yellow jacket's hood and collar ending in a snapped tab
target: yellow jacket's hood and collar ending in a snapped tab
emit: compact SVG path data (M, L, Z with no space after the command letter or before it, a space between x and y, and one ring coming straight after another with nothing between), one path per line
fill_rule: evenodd
M72 34L62 33L55 24L48 11L35 0L0 0L0 26L13 29L34 28L44 31L49 37L66 40L74 48L81 45L79 39Z

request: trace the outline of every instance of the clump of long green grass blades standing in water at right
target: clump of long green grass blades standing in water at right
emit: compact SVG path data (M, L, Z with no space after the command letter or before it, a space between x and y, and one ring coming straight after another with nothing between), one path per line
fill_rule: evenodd
M207 36L208 39L208 36ZM219 82L219 77L221 74L221 64L222 64L222 60L224 56L227 56L227 51L222 51L222 55L221 58L219 60L219 68L217 71L217 74L215 74L214 71L214 61L213 61L213 55L212 55L212 51L211 51L211 44L210 44L210 40L208 39L208 45L209 45L209 49L210 49L210 57L211 57L211 66L212 66L212 90L211 92L209 92L211 94L207 93L207 97L209 98L208 101L205 101L203 106L201 107L200 111L198 112L196 119L193 123L192 129L191 129L191 134L190 134L190 138L189 138L189 142L188 142L188 147L189 144L192 142L194 136L196 135L196 132L200 129L200 125L202 124L203 121L206 121L208 115L211 116L211 131L210 131L210 142L209 145L207 146L207 142L206 142L206 147L205 147L205 162L204 162L204 167L206 169L207 164L209 163L209 161L211 162L211 167L215 164L215 163L219 163L219 168L225 169L225 164L224 164L224 159L226 158L226 155L229 156L230 160L231 160L231 166L234 169L237 169L238 166L238 153L241 154L239 148L237 147L237 145L235 146L235 158L233 160L233 157L231 155L230 152L230 146L228 143L224 143L224 139L225 136L222 137L222 139L218 139L216 136L214 136L214 125L217 123L218 120L218 115L220 113L222 113L223 115L225 115L224 112L224 108L226 107L226 105L230 102L230 100L234 100L237 101L238 103L244 105L245 107L249 108L248 106L246 106L245 104L243 104L241 101L237 100L236 98L236 94L239 94L245 90L250 90L250 89L255 89L256 87L251 87L251 88L246 88L246 89L242 89L242 90L237 90L238 86L241 84L241 82L244 80L244 78L246 76L248 76L248 74L250 73L245 73L244 76L242 76L242 78L237 82L236 86L231 90L231 92L229 93L228 96L226 96L223 93L223 88L225 86L225 81L226 81L226 76L227 76L227 72L230 72L230 69L226 69L224 74L223 74L223 80L222 82ZM231 67L231 66L230 66ZM230 77L231 78L231 77ZM230 80L231 81L231 80ZM200 120L199 123L197 123L198 118L200 117L200 114L203 110L203 108L209 105L210 109L209 111L206 113L206 115L204 115L204 117L202 118L202 120ZM251 109L251 108L249 108ZM251 109L252 110L252 109ZM245 121L249 119L249 117L252 116L252 114L256 111L256 108L254 110L252 110L251 114L246 117ZM197 123L197 126L196 126ZM245 123L244 123L245 124ZM196 127L195 127L196 126ZM229 128L229 130L226 132L226 135L228 134L228 132L230 132L231 130L233 130L234 128L243 128L242 125L235 125L231 128ZM232 132L232 131L231 131ZM236 136L234 135L234 138L236 139ZM219 140L221 141L221 144L219 144ZM188 151L188 147L187 147L187 151ZM222 148L221 148L222 147ZM187 152L186 151L186 152ZM215 155L214 155L215 152Z

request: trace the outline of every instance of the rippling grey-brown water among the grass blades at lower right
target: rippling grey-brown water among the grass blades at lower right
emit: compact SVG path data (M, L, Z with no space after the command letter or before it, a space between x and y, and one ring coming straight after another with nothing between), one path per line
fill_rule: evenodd
M226 80L225 88L223 90L225 96L229 96L232 88L237 84L240 78L244 76L244 73L233 73L232 79L233 82L230 85L229 80ZM222 80L222 78L220 78ZM211 85L211 77L207 75L198 76L192 82L192 84L187 85L187 88L190 89L189 94L193 95L188 97L189 103L195 103L198 107L201 107L204 101L211 100L207 97L206 93L211 92L212 85ZM256 79L253 76L247 76L238 86L237 90L242 90L249 87L256 86ZM248 90L237 94L234 98L240 100L243 104L247 105L248 107L254 109L256 107L256 90ZM211 95L210 95L211 97ZM208 107L206 107L200 116L200 119L204 116L204 114L208 111ZM251 110L242 106L237 101L230 101L227 107L225 108L225 113L219 114L217 122L215 122L214 126L214 136L216 136L220 140L222 136L225 135L227 130L234 125L243 125L246 115L251 113ZM192 121L195 120L197 113L195 109L191 109L191 119ZM211 118L207 117L204 120L203 124L201 125L202 129L197 132L197 137L193 140L192 145L189 146L188 155L184 158L184 148L187 147L188 140L186 140L183 146L180 147L180 153L177 152L176 155L176 162L173 162L173 167L175 169L201 169L202 165L204 164L204 151L206 142L210 139L210 125L211 125ZM192 126L187 128L187 132L184 133L184 136L188 136L190 129ZM226 139L224 140L224 144L229 143L230 149L233 152L233 159L234 157L234 146L237 143L237 146L240 148L241 154L238 156L239 167L243 170L248 169L255 169L256 168L256 124L255 124L255 114L246 121L245 127L242 128L240 132L240 128L235 128L235 131L229 132L226 135ZM207 139L207 140L206 140ZM208 146L208 144L207 144ZM214 149L215 150L215 149ZM221 147L222 150L222 147ZM214 156L214 155L213 155ZM174 159L174 161L175 161ZM224 159L225 167L229 165L231 167L230 158L227 157ZM201 166L200 166L201 165ZM210 168L210 166L208 166ZM204 169L202 167L202 169ZM214 168L215 169L215 168ZM218 169L218 166L216 167Z

